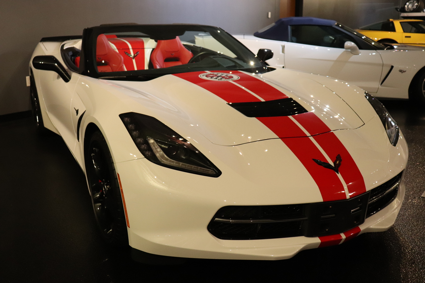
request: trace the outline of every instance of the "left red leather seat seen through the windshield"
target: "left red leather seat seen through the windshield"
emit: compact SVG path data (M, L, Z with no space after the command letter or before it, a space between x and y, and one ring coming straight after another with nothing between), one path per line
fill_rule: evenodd
M125 71L124 59L113 50L105 34L99 34L96 42L96 62L99 72Z

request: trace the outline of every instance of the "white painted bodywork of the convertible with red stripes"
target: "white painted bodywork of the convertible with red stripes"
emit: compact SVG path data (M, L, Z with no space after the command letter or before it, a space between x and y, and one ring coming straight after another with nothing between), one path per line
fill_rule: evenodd
M270 46L283 45L269 42ZM65 43L73 46L79 41ZM54 55L65 65L59 53L62 44L40 42L31 62L37 55ZM262 44L263 41L258 41L254 49L269 48ZM385 56L382 56L384 61ZM380 58L380 54L372 57ZM276 56L273 62L282 63L283 60L278 62L280 59L284 57ZM212 92L173 75L150 81L112 81L70 70L71 81L65 83L57 73L37 70L32 64L30 67L45 126L62 136L83 171L86 128L94 123L105 137L122 182L131 247L177 257L266 260L290 258L303 249L319 247L318 237L221 240L207 230L217 210L227 205L323 202L319 187L306 167L280 137L257 118L242 115ZM366 191L405 169L408 148L403 135L400 133L397 146L391 145L380 119L359 87L281 68L250 76L272 85L315 113L351 154L363 176ZM150 162L137 149L119 118L119 114L126 112L159 119L192 143L220 168L222 175L211 178ZM81 113L84 115L77 132ZM287 138L315 142L314 137L304 132L306 137ZM321 152L327 162L333 162L334 156L325 154L324 149ZM344 184L343 177L338 178ZM344 189L348 198L345 184ZM367 218L360 225L360 233L391 227L404 191L402 182L397 198ZM343 243L346 235L341 233L341 237L340 243Z

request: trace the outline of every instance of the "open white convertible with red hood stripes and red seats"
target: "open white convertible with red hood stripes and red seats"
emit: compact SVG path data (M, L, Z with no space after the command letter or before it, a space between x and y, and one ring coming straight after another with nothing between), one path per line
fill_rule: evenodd
M108 243L149 262L278 260L394 224L408 148L386 109L270 56L205 25L41 40L37 129L60 134L85 172Z

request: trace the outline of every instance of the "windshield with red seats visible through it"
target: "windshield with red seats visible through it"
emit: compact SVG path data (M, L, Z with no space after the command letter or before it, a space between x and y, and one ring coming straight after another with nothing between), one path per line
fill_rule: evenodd
M115 27L97 35L93 51L97 78L152 78L205 70L267 71L232 36L203 25Z

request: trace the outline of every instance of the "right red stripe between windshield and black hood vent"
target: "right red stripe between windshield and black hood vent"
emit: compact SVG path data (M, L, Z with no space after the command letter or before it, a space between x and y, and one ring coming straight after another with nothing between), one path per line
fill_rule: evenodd
M223 73L230 73L230 71ZM267 84L265 81L262 81L260 78L256 78L255 76L251 76L239 71L232 71L232 74L235 74L240 78L234 81L236 84L239 84L242 87L246 87L248 90L263 98L265 101L288 98L286 94L276 89L275 87L272 87L270 84Z

